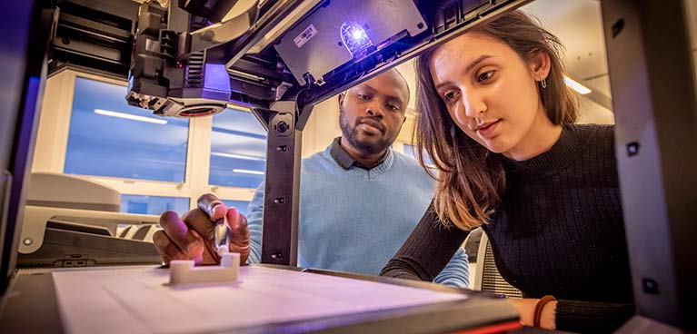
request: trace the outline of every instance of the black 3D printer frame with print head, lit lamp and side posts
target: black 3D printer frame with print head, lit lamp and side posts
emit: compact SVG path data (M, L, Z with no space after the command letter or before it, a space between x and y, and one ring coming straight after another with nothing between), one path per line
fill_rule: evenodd
M219 113L227 103L251 108L268 130L264 231L273 233L264 233L262 260L291 264L296 254L299 143L313 106L527 2L161 0L139 7L130 1L101 4L104 11L96 11L90 8L94 2L70 0L59 2L61 14L54 16L50 67L71 64L120 76L130 69L129 103L163 116ZM694 329L688 312L694 296L694 233L688 230L694 205L685 199L694 195L695 157L674 149L674 142L681 142L682 150L690 152L697 142L693 78L684 74L691 62L685 57L689 49L679 19L681 4L603 0L602 15L618 120L616 151L636 323L650 318ZM132 25L136 11L137 25ZM54 13L45 11L37 15L43 20L35 21L51 21ZM17 44L26 43L24 36ZM34 43L26 48L44 54L34 49L40 47ZM663 64L666 57L671 64ZM40 96L40 71L30 67L21 92L25 100L13 109L29 119L25 123L33 122L34 113L17 111L31 111L32 94ZM661 113L659 107L670 113ZM9 171L2 171L0 178L0 186L7 189L0 198L10 199L9 210L2 213L11 224L0 231L10 241L6 245L13 239L16 243L22 182L31 164L26 157L31 156L32 129L27 128L15 127L11 138L0 132L17 157L12 163L2 160ZM646 182L652 192L645 191ZM3 251L1 269L9 277L7 272L14 269L9 251L14 250L8 246Z

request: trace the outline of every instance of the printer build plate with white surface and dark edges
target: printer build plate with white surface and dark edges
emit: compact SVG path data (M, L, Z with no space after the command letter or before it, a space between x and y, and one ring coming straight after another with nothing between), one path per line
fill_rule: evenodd
M517 313L506 300L423 282L348 278L264 265L240 268L236 283L187 287L168 286L168 270L152 266L31 271L16 280L15 288L23 290L15 289L13 297L5 300L0 316L3 332L60 328L71 333L415 333L520 327ZM55 286L55 291L21 283L42 277L39 285ZM32 296L26 289L42 290L45 295L35 292ZM15 305L17 299L23 301ZM42 327L33 303L55 305L60 323L45 310L49 314L42 316Z

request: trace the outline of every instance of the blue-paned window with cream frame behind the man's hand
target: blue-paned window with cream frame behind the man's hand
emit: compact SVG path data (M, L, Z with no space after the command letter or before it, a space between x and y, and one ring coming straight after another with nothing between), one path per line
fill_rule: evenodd
M129 106L126 90L72 69L48 79L33 172L104 183L123 194L124 212L182 214L212 192L245 213L266 169L266 131L254 114L163 118Z

